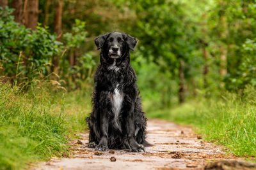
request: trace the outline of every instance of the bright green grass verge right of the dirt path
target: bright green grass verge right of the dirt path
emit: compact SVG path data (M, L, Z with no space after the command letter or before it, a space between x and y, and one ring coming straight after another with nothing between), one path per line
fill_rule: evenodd
M198 99L172 109L150 111L148 117L196 127L207 141L216 141L238 156L256 155L256 106L247 97L230 94L219 99Z

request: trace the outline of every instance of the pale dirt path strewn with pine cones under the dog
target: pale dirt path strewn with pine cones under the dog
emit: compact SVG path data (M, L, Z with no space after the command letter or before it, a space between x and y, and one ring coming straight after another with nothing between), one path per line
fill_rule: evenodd
M83 144L72 141L70 158L51 159L34 169L204 169L211 160L236 159L225 154L221 146L202 141L190 127L151 119L147 129L148 141L154 146L145 153L114 150L95 155L95 150L87 147L88 134L81 134ZM111 162L111 157L116 161Z

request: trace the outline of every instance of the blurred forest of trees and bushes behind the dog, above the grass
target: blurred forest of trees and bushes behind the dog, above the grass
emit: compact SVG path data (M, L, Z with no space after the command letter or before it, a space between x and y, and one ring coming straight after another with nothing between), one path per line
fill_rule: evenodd
M1 0L7 4L0 75L19 86L47 78L68 91L91 87L93 39L111 31L140 39L131 64L148 106L256 85L253 0Z

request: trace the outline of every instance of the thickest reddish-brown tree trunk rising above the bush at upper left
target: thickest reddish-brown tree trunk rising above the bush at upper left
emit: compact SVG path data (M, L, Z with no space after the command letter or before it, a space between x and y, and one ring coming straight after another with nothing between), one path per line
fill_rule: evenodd
M27 28L36 29L38 22L38 0L25 0L24 24Z

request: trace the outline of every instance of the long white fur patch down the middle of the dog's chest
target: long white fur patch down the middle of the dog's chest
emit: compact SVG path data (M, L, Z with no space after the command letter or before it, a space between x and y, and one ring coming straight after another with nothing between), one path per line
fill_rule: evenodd
M118 116L122 109L122 103L124 101L124 94L118 90L118 86L114 90L113 96L111 97L111 104L112 104L112 111L114 114L114 122L115 125L118 127Z

